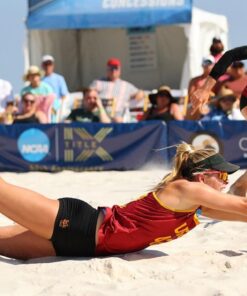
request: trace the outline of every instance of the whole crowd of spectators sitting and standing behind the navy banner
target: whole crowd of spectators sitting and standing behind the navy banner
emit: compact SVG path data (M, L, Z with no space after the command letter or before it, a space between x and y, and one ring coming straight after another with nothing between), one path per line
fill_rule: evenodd
M245 65L234 62L218 80L210 103L191 112L190 95L203 85L224 45L213 38L202 73L189 81L188 95L174 97L165 85L155 91L138 89L121 79L121 61L110 58L104 78L93 80L82 95L73 96L65 78L55 72L55 59L44 55L41 69L32 65L24 75L25 85L14 96L11 83L0 79L0 121L15 123L137 122L142 120L241 120L240 95L247 84Z

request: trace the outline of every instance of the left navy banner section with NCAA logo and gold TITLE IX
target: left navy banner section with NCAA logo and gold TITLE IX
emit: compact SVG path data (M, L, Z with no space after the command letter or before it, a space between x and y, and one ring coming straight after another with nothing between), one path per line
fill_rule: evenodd
M74 123L0 126L0 171L133 170L165 164L166 126Z

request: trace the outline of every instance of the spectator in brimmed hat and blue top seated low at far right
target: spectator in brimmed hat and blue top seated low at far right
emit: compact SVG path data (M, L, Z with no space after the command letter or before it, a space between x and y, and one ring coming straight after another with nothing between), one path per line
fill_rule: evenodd
M243 120L239 108L235 107L236 99L233 91L223 86L211 111L202 120Z

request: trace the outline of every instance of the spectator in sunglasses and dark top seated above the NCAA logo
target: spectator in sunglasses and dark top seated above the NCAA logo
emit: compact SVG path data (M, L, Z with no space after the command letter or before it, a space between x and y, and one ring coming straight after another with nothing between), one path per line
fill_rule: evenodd
M13 123L47 123L46 115L37 110L36 96L25 93L21 98L21 112L12 114Z

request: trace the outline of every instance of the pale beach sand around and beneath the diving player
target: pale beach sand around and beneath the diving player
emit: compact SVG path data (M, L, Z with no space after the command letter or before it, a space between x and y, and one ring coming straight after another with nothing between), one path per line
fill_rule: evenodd
M98 206L133 200L165 173L146 169L1 176L54 199L73 196ZM247 226L200 220L201 224L182 238L121 256L28 261L0 257L0 295L246 296ZM0 223L12 222L0 215Z

